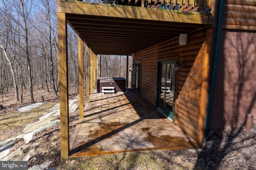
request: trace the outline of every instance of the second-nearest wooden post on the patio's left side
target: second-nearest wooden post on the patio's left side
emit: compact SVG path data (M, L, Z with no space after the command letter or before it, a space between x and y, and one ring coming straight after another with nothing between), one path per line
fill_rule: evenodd
M78 37L79 118L84 117L84 42Z

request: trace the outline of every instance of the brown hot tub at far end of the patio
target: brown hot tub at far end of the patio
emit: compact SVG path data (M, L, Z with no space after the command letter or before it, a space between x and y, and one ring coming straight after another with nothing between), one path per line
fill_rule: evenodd
M126 80L123 77L99 77L97 78L97 92L102 92L102 87L114 86L115 92L126 92Z

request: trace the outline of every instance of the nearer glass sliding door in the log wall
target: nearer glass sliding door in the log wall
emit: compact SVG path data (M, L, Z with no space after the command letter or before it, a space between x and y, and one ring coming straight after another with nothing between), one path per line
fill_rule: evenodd
M176 59L158 62L157 79L157 103L156 106L161 109L173 122L174 119L174 94L175 94L175 70Z

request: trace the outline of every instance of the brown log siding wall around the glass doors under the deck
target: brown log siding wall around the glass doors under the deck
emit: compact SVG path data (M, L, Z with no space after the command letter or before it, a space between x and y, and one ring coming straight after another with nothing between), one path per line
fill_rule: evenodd
M133 59L134 63L138 61L142 63L141 95L152 104L156 104L158 61L177 59L180 64L185 64L176 74L177 99L174 123L196 141L198 141L205 40L206 30L201 30L188 35L188 45L181 46L178 39L173 39L135 53Z

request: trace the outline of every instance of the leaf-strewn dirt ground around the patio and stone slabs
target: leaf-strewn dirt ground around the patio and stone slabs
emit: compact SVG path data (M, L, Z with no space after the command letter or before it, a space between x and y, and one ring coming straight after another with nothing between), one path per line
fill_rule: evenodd
M77 98L77 93L70 88L70 99ZM4 109L0 110L0 116L8 116L10 119L22 118L23 114L14 115L13 111L19 107L30 104L30 95L27 90L24 92L22 103L14 100L14 94L3 94L0 96L0 105ZM54 99L53 92L45 90L34 90L35 102L57 104L58 99ZM78 103L77 103L78 104ZM38 114L30 123L37 121L41 115ZM70 135L78 121L78 109L70 113ZM24 117L23 117L24 118ZM0 119L1 120L1 119ZM4 141L22 131L26 124L4 126L0 121L1 137ZM245 123L237 124L224 129L221 134L223 139L213 134L209 137L205 145L199 149L178 149L178 150L151 150L147 152L128 152L123 154L112 154L104 156L94 156L78 158L74 160L60 160L60 127L49 129L38 135L32 143L40 143L38 154L28 161L28 168L52 160L49 168L56 169L76 169L76 170L142 170L142 169L177 169L177 170L255 170L256 169L256 119L253 120L253 128L245 131ZM220 136L218 134L218 136ZM25 145L20 139L11 148L10 152L20 146ZM24 150L28 152L28 150Z

